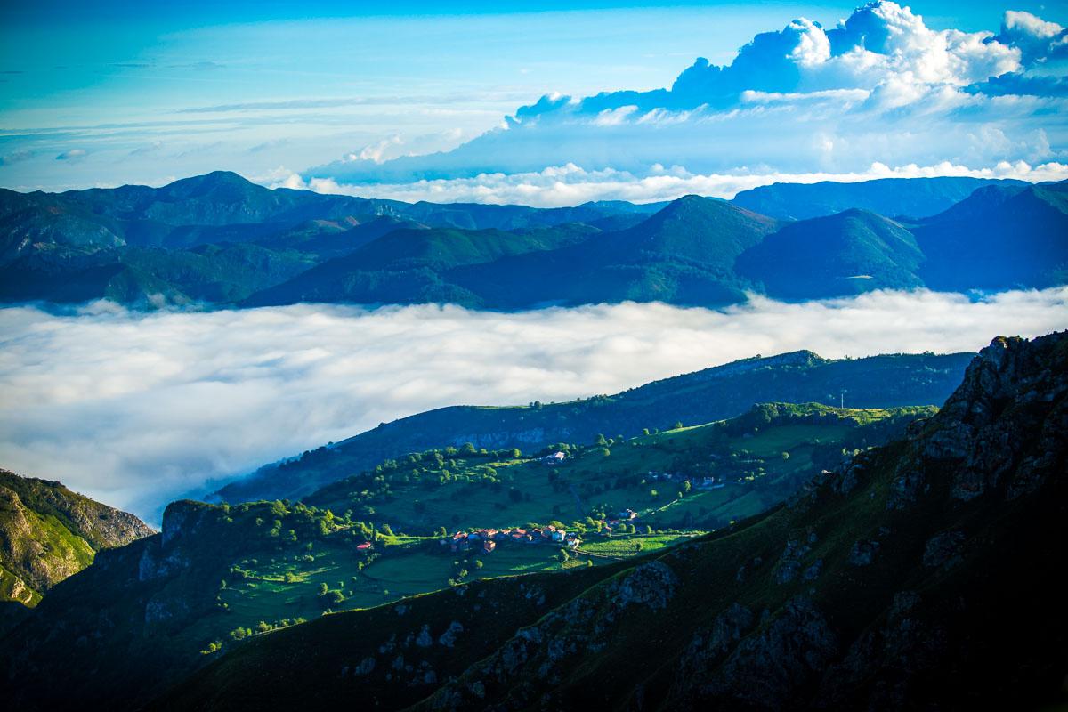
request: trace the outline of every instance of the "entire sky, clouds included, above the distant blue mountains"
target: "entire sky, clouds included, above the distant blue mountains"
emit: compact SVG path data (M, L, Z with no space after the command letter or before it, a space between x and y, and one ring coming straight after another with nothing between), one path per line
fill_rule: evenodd
M560 205L783 176L1068 177L1061 3L139 4L0 7L0 187L225 169Z

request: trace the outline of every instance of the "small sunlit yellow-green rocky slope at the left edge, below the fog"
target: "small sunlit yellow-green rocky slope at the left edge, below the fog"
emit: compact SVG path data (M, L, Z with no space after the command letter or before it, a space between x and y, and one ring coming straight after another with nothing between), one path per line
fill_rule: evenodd
M36 605L42 594L92 564L101 549L152 534L134 515L60 482L0 470L0 600Z

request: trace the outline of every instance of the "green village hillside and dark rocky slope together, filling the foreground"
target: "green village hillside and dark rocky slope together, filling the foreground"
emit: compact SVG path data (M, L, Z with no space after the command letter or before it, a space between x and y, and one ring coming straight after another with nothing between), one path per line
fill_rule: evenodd
M736 364L737 375L752 366ZM18 682L9 701L27 710L282 709L311 697L382 710L1056 703L1068 649L1056 574L1068 534L1066 375L1068 333L1000 337L937 411L766 404L700 427L562 444L555 465L541 453L469 444L387 460L307 504L173 503L160 534L101 552L0 637L7 679ZM688 489L671 470L698 481L694 468L712 480L729 473L723 489L679 491L664 509L666 488ZM517 487L535 496L513 496ZM775 499L753 501L775 487ZM419 515L413 497L433 506L438 491L441 511L475 527L461 528L462 539L386 523ZM584 531L584 541L555 559L555 547L528 542L553 527L508 528L523 542L497 551L489 543L500 532L477 528L516 526L572 494L590 497L594 513L563 525ZM616 532L606 535L595 497L614 500L610 508L634 502L641 513L630 521L648 522L648 533L628 534L626 520L607 515ZM707 534L651 531L668 526L664 511L713 501L737 513ZM375 508L333 513L346 502ZM486 547L474 539L468 551L466 532L481 532ZM502 575L509 571L528 575ZM374 591L379 603L360 603ZM305 621L316 606L325 615Z

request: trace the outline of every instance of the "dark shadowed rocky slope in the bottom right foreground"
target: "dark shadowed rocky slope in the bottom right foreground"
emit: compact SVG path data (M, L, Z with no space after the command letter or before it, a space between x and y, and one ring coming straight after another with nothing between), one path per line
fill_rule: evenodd
M957 710L1064 703L1068 334L787 506L611 567L326 616L153 709Z

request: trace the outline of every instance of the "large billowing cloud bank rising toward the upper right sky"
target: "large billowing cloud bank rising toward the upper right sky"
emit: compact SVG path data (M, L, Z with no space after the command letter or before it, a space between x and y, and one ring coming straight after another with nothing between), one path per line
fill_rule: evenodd
M575 163L644 176L863 172L888 165L1068 162L1068 30L1008 12L998 32L928 28L890 1L836 27L798 18L726 65L697 59L665 89L546 94L431 155L342 160L303 179L410 184Z

